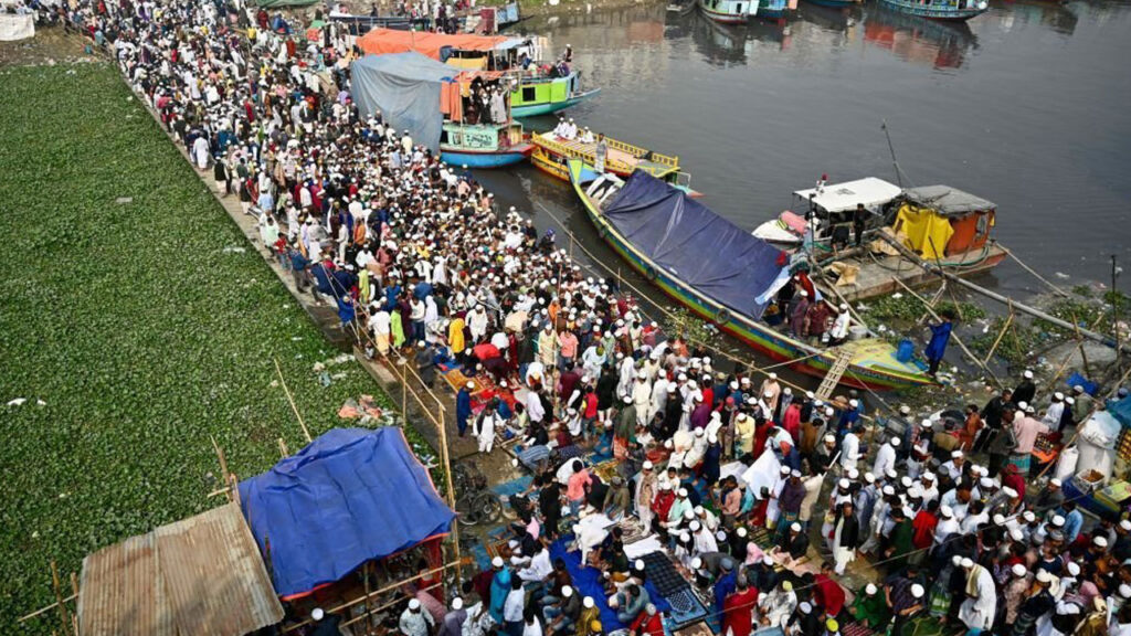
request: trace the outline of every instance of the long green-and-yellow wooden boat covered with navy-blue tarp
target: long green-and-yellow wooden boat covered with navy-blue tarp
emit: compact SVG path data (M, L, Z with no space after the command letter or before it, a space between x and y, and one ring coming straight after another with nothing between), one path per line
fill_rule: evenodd
M762 321L767 294L771 296L782 277L789 276L777 248L647 172L633 172L621 181L586 170L580 160L569 160L567 165L602 239L664 293L719 329L817 377L828 375L843 359L847 367L841 384L873 389L934 384L922 364L897 360L895 347L883 340L862 338L820 349ZM680 208L677 220L672 215L675 207ZM656 220L651 225L650 218Z

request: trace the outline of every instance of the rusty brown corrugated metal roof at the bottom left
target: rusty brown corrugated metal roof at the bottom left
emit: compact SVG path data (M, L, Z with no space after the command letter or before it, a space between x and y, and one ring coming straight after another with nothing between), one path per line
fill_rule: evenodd
M283 620L238 504L163 525L83 560L81 636L243 636Z

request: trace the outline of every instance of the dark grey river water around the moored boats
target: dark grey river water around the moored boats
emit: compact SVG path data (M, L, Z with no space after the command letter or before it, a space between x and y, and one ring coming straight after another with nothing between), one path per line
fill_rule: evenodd
M602 88L569 117L679 155L701 200L742 227L787 209L821 173L895 182L887 121L905 183L996 203L996 238L1059 284L1108 281L1112 253L1131 261L1131 0L991 6L955 26L874 1L803 0L786 22L727 27L649 5L520 31L549 36L552 50L572 44L586 85ZM477 177L618 265L567 183L529 165ZM1041 291L1009 260L978 281L1021 298Z

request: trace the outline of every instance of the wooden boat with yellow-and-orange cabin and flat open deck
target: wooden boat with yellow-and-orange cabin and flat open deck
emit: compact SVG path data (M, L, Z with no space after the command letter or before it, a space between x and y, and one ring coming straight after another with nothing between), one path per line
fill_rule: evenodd
M886 206L889 225L873 233L864 250L818 259L837 292L863 300L935 283L936 272L915 265L925 261L959 276L992 269L1008 252L992 238L996 206L949 186L904 190ZM878 249L879 248L879 249Z

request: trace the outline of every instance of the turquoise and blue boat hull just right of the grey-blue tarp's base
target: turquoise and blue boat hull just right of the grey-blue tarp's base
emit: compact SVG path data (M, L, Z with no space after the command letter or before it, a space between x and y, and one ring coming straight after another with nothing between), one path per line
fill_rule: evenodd
M451 165L504 167L533 152L534 145L523 139L523 124L513 120L498 124L444 121L440 135L440 157Z

